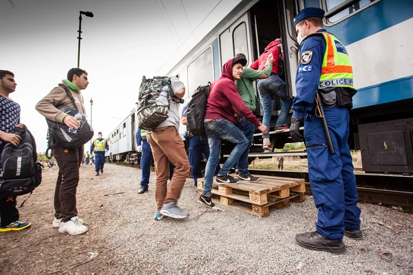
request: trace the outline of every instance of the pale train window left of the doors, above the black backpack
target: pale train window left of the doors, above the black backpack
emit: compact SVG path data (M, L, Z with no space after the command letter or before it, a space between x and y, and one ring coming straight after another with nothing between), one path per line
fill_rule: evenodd
M212 47L202 52L191 64L188 65L188 94L191 97L193 91L200 85L213 82Z

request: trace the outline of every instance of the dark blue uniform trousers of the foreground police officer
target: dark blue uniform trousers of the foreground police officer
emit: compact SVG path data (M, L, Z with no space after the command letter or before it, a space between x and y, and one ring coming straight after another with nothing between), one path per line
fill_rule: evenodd
M324 108L335 153L328 153L321 120L306 115L308 174L318 209L317 232L328 239L342 239L344 230L360 229L360 208L354 167L348 146L350 115L347 109Z

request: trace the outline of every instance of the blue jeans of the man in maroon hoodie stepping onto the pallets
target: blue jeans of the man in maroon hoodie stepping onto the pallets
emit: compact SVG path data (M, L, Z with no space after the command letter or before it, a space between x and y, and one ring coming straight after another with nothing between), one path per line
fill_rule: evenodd
M249 146L249 141L246 139L245 135L240 131L240 129L233 124L233 122L225 119L217 120L204 120L205 132L207 133L208 143L209 143L209 158L207 162L207 168L205 168L205 178L204 178L204 189L202 190L202 195L206 197L211 196L213 174L215 168L220 162L221 155L221 143L222 140L226 140L235 144L235 148L231 154L229 154L228 159L222 166L220 173L218 175L226 175L231 172L231 169L242 154L246 151Z

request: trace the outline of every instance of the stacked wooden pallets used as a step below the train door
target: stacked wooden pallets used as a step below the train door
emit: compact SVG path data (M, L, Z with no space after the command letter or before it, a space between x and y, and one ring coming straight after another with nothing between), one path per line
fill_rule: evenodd
M214 180L211 193L220 203L258 217L267 217L269 207L285 208L290 201L306 199L304 179L262 176L260 181L240 181L234 185L217 184ZM202 191L204 179L198 179L198 191ZM237 204L234 204L234 203Z

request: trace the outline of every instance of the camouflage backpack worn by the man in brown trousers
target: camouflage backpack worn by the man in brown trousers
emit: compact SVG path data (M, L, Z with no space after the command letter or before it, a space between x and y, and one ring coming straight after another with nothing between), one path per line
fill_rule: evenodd
M166 96L160 96L168 85ZM167 76L142 77L138 97L138 125L141 130L151 131L169 116L171 104L171 79Z

